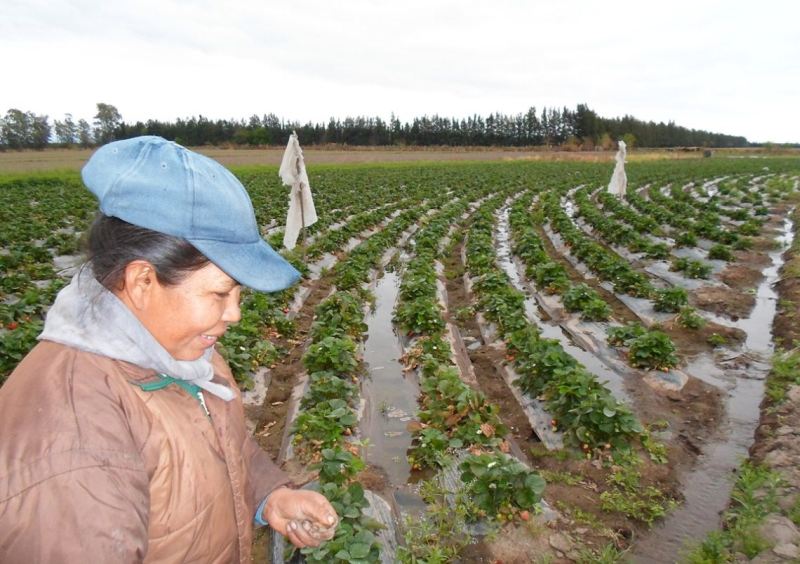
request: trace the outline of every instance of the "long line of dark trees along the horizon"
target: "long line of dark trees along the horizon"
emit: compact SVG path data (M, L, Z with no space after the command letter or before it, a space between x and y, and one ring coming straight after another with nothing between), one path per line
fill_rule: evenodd
M617 139L640 147L746 147L747 139L709 131L688 129L674 122L655 123L632 116L603 118L585 104L573 110L531 107L525 113L467 118L439 115L415 117L401 122L394 114L380 117L331 118L328 123L286 121L275 114L248 119L210 120L201 116L174 122L148 120L128 123L111 104L98 103L90 124L77 122L71 114L63 120L10 109L0 118L0 149L42 149L47 146L102 145L114 139L137 135L159 135L182 145L285 145L297 131L304 145L345 144L355 146L553 146L591 150L611 148Z

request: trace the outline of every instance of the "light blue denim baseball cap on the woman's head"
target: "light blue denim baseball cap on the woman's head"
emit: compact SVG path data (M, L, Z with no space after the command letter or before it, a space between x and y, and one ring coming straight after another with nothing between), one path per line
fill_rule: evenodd
M81 176L105 215L186 239L240 284L275 292L300 278L261 238L242 183L208 157L134 137L100 147Z

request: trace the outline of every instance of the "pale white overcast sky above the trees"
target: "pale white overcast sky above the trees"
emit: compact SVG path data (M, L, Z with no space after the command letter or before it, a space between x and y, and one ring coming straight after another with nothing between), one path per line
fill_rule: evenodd
M800 142L800 1L0 0L0 112L127 122L586 103Z

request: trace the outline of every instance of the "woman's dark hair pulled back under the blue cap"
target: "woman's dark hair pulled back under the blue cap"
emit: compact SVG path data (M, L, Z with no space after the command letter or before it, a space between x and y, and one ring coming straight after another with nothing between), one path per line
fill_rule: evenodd
M121 290L125 267L135 260L153 265L156 278L175 286L210 261L181 237L132 225L98 212L86 239L87 265L108 290Z

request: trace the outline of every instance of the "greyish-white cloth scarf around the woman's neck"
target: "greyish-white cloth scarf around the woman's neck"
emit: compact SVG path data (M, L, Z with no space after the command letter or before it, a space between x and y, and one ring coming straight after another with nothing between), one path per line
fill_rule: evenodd
M88 266L58 293L38 338L186 380L225 401L234 398L228 386L211 381L210 348L197 360L174 359L128 306L95 280Z

